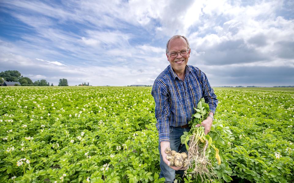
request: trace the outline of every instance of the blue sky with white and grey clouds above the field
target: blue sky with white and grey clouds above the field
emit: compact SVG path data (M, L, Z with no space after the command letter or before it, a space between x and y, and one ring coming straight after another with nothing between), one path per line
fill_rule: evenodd
M173 35L188 38L188 64L211 86L294 85L292 0L1 0L0 72L54 85L153 85Z

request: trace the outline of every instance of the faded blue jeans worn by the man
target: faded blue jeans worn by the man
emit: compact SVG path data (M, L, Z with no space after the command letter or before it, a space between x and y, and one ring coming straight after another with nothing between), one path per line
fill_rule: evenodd
M185 144L181 143L181 136L183 132L190 131L190 128L181 128L181 127L169 127L169 135L170 135L170 146L171 150L176 152L187 152ZM167 164L164 163L161 156L160 143L158 146L159 154L160 154L160 178L165 178L165 183L172 183L175 180L175 174L180 174L181 177L184 175L184 170L177 170L170 168Z

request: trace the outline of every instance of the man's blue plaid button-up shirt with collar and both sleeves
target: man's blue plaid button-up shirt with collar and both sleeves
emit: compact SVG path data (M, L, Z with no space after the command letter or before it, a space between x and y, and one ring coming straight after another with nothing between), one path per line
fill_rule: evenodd
M156 128L159 142L170 141L169 127L179 127L188 124L194 107L202 97L209 104L211 112L217 107L217 96L207 80L206 75L197 67L187 65L184 81L169 65L155 79L152 91L155 101Z

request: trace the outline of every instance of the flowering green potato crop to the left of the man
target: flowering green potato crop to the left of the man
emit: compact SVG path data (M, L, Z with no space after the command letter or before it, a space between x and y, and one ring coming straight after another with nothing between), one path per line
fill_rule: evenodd
M0 182L164 182L150 88L0 90Z

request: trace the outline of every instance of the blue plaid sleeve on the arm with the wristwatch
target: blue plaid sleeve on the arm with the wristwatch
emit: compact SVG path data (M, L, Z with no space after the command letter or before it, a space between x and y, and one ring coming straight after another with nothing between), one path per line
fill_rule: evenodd
M202 71L201 71L201 81L202 81L202 87L203 87L202 96L204 97L205 102L208 103L210 112L214 114L217 108L217 103L218 103L217 96L214 94L214 91L212 87L210 86L206 75Z

